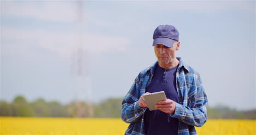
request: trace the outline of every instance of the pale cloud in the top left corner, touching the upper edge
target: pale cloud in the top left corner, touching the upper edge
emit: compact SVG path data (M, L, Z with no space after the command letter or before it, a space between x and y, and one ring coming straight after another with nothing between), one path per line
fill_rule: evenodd
M1 6L1 16L32 18L40 21L52 22L91 22L97 26L109 26L111 21L98 17L97 9L86 9L85 1L3 1Z

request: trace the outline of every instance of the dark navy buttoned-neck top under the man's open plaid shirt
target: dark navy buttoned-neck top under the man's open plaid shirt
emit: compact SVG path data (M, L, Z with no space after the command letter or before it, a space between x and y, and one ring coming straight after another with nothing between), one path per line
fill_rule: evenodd
M165 91L167 98L179 103L176 89L176 72L178 66L165 69L159 65L155 68L154 76L146 92ZM150 111L148 108L144 114L146 135L153 134L178 134L178 119L160 110Z

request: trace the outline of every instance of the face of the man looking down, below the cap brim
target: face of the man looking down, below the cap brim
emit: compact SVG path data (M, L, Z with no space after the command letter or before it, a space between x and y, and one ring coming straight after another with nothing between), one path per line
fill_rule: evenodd
M171 48L162 44L154 45L155 56L160 65L169 65L176 60L175 51L179 49L179 44L179 42L175 42Z

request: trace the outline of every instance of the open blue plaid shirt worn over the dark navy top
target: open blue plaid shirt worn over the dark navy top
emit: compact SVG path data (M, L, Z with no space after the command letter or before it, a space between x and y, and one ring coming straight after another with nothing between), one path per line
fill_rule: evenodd
M177 57L179 66L176 73L176 87L179 103L171 117L179 119L179 135L196 134L194 126L201 127L207 121L207 96L202 86L200 75L195 69ZM138 99L141 97L154 75L156 62L152 67L144 69L136 77L130 91L122 102L121 118L130 123L125 134L145 134L144 112L147 108L139 107Z

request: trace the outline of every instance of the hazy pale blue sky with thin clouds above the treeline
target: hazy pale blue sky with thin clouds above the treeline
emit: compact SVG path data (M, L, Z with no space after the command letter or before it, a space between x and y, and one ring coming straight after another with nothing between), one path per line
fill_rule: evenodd
M255 1L1 1L1 99L123 98L157 60L153 32L179 31L209 107L255 109Z

